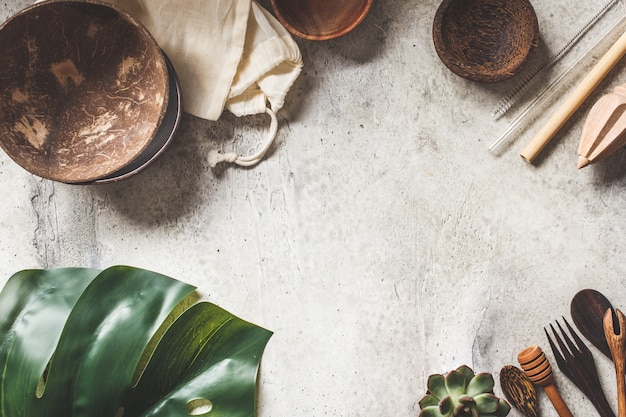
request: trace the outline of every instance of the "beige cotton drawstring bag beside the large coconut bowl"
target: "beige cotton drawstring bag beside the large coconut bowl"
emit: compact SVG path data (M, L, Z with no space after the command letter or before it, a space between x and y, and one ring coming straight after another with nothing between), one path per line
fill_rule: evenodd
M266 143L254 155L209 154L211 166L259 162L276 136L276 112L302 69L287 30L252 0L108 1L142 22L170 58L187 113L217 120L226 108L236 116L270 116Z

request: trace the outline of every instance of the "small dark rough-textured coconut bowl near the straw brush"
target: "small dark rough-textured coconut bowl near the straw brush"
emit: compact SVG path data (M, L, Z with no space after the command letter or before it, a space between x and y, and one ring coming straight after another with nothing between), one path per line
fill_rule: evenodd
M539 43L528 0L444 0L433 23L439 58L455 74L498 82L517 74Z

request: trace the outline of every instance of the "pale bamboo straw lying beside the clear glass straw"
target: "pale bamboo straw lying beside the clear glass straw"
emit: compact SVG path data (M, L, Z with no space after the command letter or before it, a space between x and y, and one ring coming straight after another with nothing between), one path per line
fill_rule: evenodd
M626 54L626 32L611 46L578 87L567 97L565 102L556 110L541 130L537 132L526 148L524 148L520 155L526 161L533 162L556 132L572 117L578 107L589 97L591 92L600 84L624 54Z

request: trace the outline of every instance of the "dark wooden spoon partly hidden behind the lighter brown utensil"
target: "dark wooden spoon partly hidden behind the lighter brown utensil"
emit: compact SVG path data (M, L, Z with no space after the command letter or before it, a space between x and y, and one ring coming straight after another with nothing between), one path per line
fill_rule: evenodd
M604 335L603 318L608 309L613 309L609 300L599 291L592 289L579 291L570 303L570 314L578 330L600 352L613 359Z

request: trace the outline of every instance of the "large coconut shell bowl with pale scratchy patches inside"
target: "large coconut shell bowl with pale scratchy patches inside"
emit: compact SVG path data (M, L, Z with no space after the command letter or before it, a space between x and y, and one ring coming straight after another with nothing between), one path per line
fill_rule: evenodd
M149 148L165 116L161 49L128 14L47 1L0 26L0 146L43 178L84 183Z

